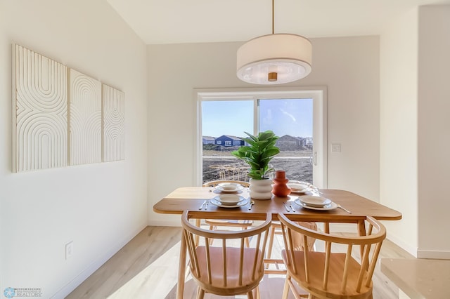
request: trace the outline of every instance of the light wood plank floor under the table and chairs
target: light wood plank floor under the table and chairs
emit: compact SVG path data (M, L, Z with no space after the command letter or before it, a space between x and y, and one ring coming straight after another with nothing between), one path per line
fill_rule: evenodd
M181 227L146 227L66 298L176 298L180 238ZM274 241L274 256L279 252L275 248L281 248L281 243L281 236L277 236ZM379 258L413 256L385 240ZM281 275L264 276L259 286L261 297L281 298L283 283ZM373 286L374 299L399 298L399 289L380 272L379 267L375 270ZM188 277L185 298L196 298L195 294L195 283ZM246 296L220 297L207 294L205 298Z

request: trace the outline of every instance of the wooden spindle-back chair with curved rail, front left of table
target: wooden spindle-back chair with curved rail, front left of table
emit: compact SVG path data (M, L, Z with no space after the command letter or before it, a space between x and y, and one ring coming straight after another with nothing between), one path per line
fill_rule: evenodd
M264 221L264 222L263 222ZM259 282L264 276L264 251L271 223L266 213L260 225L237 231L214 231L197 227L191 221L191 212L181 216L183 236L189 255L189 268L198 285L197 298L205 293L214 295L247 294L259 298ZM200 243L195 244L195 237ZM245 239L251 238L250 247Z

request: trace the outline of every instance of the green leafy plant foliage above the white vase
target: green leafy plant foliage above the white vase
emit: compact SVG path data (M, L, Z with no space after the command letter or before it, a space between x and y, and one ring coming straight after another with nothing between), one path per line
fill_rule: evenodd
M272 131L260 132L257 136L244 132L249 138L243 138L249 145L243 145L231 152L234 157L242 159L250 166L248 176L255 180L263 180L269 171L269 161L280 152L275 146L278 136Z

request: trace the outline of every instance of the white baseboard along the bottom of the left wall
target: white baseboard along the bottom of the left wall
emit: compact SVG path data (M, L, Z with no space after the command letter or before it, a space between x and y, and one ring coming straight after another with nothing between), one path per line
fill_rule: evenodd
M110 250L106 251L105 254L99 256L94 260L89 267L84 269L81 273L79 273L74 279L72 279L68 284L63 286L63 288L60 288L59 291L57 291L54 295L52 295L51 299L63 299L70 293L72 293L77 286L82 284L84 280L86 280L89 276L91 276L98 268L100 268L104 263L106 263L107 260L109 260L117 251L120 251L120 249L125 246L131 239L136 237L139 232L141 232L145 227L142 227L140 230L137 230L136 232L131 233L128 237L124 238L122 241L117 242L115 246L110 248Z

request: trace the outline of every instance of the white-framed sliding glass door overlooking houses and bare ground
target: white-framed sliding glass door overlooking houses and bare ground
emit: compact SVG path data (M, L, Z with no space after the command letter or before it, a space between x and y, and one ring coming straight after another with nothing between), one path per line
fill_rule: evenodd
M197 91L198 142L195 172L198 185L207 180L248 180L248 165L231 151L243 145L244 132L271 130L281 153L271 160L290 180L326 187L325 88L261 88L252 91ZM232 141L208 138L231 136ZM224 144L225 146L221 146Z

